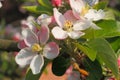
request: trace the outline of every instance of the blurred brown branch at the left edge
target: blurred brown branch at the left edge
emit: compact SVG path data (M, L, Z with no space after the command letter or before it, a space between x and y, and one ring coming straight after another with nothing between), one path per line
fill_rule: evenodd
M0 51L19 51L17 42L13 40L0 39Z

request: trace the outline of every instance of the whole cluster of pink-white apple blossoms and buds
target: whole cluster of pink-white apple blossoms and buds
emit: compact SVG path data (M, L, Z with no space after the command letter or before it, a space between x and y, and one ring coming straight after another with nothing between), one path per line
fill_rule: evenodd
M21 50L15 58L17 64L22 67L30 64L33 74L38 74L44 65L44 58L59 56L62 47L59 48L57 40L76 40L84 36L84 30L88 28L101 29L94 22L103 19L105 13L102 9L92 8L97 3L98 0L92 3L88 0L69 0L71 9L63 13L58 8L62 1L52 0L55 6L52 16L41 14L32 21L22 21L25 28L22 30L23 40L18 44Z

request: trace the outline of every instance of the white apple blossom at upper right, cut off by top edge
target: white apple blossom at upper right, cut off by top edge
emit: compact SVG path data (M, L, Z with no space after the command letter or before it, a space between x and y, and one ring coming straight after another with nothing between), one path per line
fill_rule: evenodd
M96 1L97 3L98 1ZM98 21L104 18L105 13L102 9L95 10L86 7L86 3L83 0L70 0L70 6L73 14L78 19L86 19L90 22L90 25L94 29L100 29L93 21Z

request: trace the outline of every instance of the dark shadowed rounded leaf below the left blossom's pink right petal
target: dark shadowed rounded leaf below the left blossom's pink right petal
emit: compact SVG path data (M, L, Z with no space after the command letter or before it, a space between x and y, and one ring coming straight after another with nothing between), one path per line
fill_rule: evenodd
M70 66L70 59L59 56L53 60L52 72L57 76L62 76Z

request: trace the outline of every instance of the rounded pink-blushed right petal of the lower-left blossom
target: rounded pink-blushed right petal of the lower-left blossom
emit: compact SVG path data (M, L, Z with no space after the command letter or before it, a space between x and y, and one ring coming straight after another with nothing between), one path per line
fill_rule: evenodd
M55 42L50 42L45 45L43 55L48 59L56 58L59 55L59 47Z

